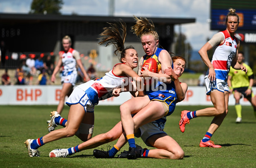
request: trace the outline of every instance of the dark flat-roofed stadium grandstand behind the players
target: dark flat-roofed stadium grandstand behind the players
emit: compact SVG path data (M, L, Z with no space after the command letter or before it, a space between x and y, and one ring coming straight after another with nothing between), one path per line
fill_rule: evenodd
M26 58L31 53L36 54L37 57L41 53L58 55L62 49L62 37L69 35L73 41L72 47L84 57L85 67L94 63L97 70L108 71L119 62L118 58L113 56L113 46L99 46L97 42L99 34L103 31L102 28L109 26L107 22L115 23L115 20L119 19L127 24L125 46L133 45L139 56L144 55L140 40L130 31L131 26L134 25L132 16L0 14L0 39L6 43L8 49L6 66L17 67L22 54L26 55ZM174 51L174 26L195 22L195 18L148 17L148 19L153 21L159 34L160 46L167 51Z

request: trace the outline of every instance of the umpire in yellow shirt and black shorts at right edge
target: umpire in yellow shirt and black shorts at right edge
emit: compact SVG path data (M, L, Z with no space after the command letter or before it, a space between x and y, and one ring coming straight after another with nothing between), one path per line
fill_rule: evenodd
M235 70L230 67L230 72L227 78L227 84L230 88L230 93L233 93L234 98L236 99L236 123L242 122L242 106L239 103L242 95L244 95L244 98L247 98L247 100L250 101L254 109L254 115L256 116L256 97L254 97L252 92L254 75L252 69L247 64L244 64L243 61L244 53L239 52L237 62L246 67L247 73L241 70Z

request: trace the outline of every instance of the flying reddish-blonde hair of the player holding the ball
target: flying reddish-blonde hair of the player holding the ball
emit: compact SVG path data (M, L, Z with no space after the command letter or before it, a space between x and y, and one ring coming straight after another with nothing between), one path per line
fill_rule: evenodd
M134 16L134 20L136 24L131 29L137 37L141 38L143 35L153 35L156 41L159 39L152 20L148 20L146 17L140 17L139 19L136 16Z

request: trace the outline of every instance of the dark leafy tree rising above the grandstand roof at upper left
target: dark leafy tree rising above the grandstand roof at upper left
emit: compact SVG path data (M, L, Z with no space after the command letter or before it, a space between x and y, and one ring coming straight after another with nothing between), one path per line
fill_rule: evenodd
M30 14L61 14L63 0L33 0Z

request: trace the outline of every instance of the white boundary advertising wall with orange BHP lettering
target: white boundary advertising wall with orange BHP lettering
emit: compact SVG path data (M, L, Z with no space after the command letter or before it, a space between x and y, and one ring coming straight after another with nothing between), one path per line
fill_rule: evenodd
M14 85L0 86L0 105L36 105L36 104L58 104L61 86L39 86L39 85ZM189 87L186 98L178 105L212 105L210 97L206 94L205 87ZM256 93L256 87L253 87ZM121 93L119 97L112 97L99 102L99 105L120 105L130 99L130 93ZM235 104L233 95L230 95L230 105ZM242 98L241 105L250 105L250 102Z

